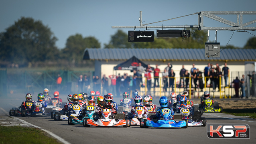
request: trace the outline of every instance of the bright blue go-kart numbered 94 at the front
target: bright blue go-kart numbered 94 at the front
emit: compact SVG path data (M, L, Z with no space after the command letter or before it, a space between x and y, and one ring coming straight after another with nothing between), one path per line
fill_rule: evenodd
M171 118L171 109L169 107L161 107L160 110L161 118L153 118L153 120L141 119L140 128L148 127L161 127L161 128L187 128L188 122L182 120L181 114L175 114Z

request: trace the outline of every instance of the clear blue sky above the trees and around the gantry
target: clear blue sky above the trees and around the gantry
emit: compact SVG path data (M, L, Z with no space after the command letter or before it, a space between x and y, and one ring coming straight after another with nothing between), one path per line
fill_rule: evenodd
M41 20L51 29L58 39L56 46L59 49L65 47L68 37L77 33L83 37L95 37L103 47L118 30L112 26L139 26L140 11L143 24L146 24L200 11L256 11L255 6L256 0L0 0L0 32L5 32L6 28L22 16L32 17L34 20ZM235 15L222 18L236 22ZM243 22L255 19L256 15L246 15ZM150 24L162 25L198 25L198 15ZM204 26L227 27L226 24L209 18L204 18ZM250 26L256 27L256 24ZM128 34L128 30L134 29L121 30ZM157 29L148 30L154 30L156 34ZM217 31L217 42L221 46L226 46L230 40L229 45L244 47L248 39L256 35L256 31L250 33L233 34L233 31L228 30ZM210 31L209 40L215 42L214 30Z

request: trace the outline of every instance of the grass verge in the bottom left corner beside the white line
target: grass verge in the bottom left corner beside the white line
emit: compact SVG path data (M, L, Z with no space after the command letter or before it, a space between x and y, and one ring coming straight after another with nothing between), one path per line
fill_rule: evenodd
M61 144L38 128L0 126L0 144Z

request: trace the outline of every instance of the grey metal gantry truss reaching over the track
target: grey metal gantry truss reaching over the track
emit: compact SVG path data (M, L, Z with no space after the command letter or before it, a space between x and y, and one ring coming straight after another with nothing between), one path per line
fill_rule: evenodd
M256 27L250 27L250 24L256 22L255 20L251 20L250 22L243 23L244 15L256 15L256 11L201 11L196 12L194 14L198 14L198 25L177 25L177 26L149 26L148 24L142 24L142 11L140 11L140 25L139 26L112 26L112 28L198 28L198 30L256 30ZM193 15L193 14L189 14ZM186 16L189 16L186 15ZM226 20L216 15L236 15L236 22L232 22L230 20ZM180 16L177 18L181 18L184 16ZM206 27L204 26L204 17L211 18L218 22L222 22L224 24L229 25L230 27ZM172 20L175 18L171 18L168 20ZM167 20L162 20L159 22L163 22ZM157 22L153 22L157 23ZM153 24L149 23L149 24Z

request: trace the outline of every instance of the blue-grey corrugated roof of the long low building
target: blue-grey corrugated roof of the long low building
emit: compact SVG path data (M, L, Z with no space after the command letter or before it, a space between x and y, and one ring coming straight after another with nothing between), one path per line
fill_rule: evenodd
M220 57L205 57L205 49L93 49L86 48L83 59L142 61L256 61L256 49L223 49Z

